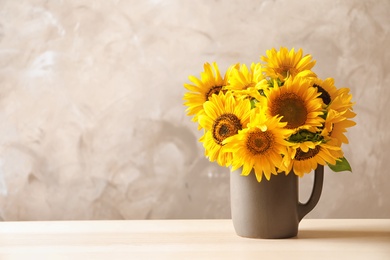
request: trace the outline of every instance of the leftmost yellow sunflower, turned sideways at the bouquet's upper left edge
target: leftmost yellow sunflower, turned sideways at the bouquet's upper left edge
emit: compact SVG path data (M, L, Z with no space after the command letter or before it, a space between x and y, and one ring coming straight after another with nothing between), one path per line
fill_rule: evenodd
M222 77L217 63L204 64L204 71L201 73L200 79L189 76L189 80L193 84L184 84L184 87L189 91L184 94L184 100L187 108L187 115L194 117L192 121L198 121L198 116L203 112L203 103L210 99L213 94L218 94L228 84L229 73L237 65L232 65Z

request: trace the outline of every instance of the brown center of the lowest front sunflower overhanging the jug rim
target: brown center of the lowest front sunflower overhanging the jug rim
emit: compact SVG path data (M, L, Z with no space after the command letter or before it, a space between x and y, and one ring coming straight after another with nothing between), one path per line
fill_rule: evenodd
M273 144L273 136L260 130L248 134L246 147L253 155L266 153Z

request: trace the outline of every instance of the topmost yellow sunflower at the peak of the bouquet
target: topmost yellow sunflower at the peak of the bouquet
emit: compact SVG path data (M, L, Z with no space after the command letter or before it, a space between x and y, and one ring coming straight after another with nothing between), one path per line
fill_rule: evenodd
M299 72L311 70L316 63L311 55L302 56L302 49L295 52L294 48L290 51L286 47L281 47L279 51L272 48L266 51L266 55L261 57L265 62L266 75L282 81L289 76L295 77Z

